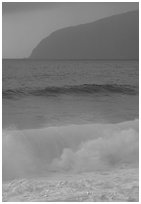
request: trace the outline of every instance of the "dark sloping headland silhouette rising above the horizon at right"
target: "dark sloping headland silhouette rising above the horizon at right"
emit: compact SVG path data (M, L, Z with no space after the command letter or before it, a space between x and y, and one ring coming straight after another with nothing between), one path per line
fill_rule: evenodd
M53 32L33 49L32 59L138 59L139 11Z

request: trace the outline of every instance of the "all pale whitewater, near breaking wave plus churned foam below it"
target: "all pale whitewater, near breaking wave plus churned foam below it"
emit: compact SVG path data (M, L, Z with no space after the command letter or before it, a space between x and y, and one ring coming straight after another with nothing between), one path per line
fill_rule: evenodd
M67 201L67 198L74 201L101 201L104 196L107 201L112 201L111 196L114 196L115 201L137 201L138 163L138 120L114 125L5 130L5 201L27 201L27 197L30 201ZM119 186L114 183L115 179L120 180ZM68 186L72 191L77 188L73 196ZM54 192L49 193L52 188ZM66 191L64 197L61 195L62 188ZM47 197L41 197L45 190ZM57 193L60 193L58 200Z

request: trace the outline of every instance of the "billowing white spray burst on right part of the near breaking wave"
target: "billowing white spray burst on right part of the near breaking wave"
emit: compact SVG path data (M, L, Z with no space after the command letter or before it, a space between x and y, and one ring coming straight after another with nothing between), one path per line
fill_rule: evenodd
M84 142L76 152L64 149L60 158L53 161L53 166L77 172L105 170L120 164L137 165L138 153L138 135L129 129Z

